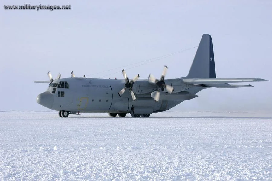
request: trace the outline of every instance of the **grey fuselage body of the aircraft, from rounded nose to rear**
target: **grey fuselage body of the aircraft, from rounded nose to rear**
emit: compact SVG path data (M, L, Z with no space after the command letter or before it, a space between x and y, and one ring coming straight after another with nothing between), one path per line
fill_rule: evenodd
M167 81L167 80L166 80ZM169 79L168 83L175 84L178 79ZM67 83L60 86L59 83ZM172 82L172 83L171 83ZM148 83L147 80L139 80L133 85L133 92L137 100L133 101L130 92L125 91L122 96L118 92L124 87L125 81L120 79L96 79L96 78L63 78L53 81L47 91L37 97L37 102L52 110L65 110L69 112L101 112L101 113L130 113L132 107L137 112L152 114L168 110L183 100L160 100L155 101L150 92L156 91L157 87ZM187 87L189 88L189 87ZM175 85L175 90L180 92L186 89L185 84ZM139 96L138 96L138 93ZM147 94L145 94L147 93ZM164 94L173 97L175 94ZM193 97L192 97L193 98ZM188 98L184 98L188 100Z

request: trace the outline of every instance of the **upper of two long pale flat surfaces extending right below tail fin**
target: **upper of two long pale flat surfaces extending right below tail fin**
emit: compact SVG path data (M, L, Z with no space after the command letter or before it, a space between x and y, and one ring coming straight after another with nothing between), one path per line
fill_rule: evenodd
M225 83L241 83L241 82L263 82L267 81L259 78L199 78L199 79L182 79L182 82L192 85L201 84L225 84Z

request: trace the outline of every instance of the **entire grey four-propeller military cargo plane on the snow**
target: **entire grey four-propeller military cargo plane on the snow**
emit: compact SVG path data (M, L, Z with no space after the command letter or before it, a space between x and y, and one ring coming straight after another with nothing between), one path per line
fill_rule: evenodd
M37 102L44 107L59 111L60 117L80 113L108 113L115 117L149 117L152 113L171 109L184 100L195 97L197 92L211 87L237 88L252 85L231 85L228 83L267 81L260 78L216 78L212 38L202 35L199 47L186 77L165 79L167 66L160 79L152 74L148 80L138 80L139 74L129 80L125 70L125 80L75 77L56 80L48 72L50 83L47 91L37 96Z

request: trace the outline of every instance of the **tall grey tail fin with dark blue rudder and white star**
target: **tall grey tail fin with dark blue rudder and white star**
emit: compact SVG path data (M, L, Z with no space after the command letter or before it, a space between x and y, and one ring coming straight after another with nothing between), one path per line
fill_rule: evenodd
M211 35L202 35L186 78L216 78Z

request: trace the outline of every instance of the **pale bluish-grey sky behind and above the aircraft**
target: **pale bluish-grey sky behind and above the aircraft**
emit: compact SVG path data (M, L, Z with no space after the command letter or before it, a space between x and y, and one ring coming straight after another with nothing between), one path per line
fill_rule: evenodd
M4 10L3 5L71 5L71 10ZM2 0L0 111L49 110L36 102L48 80L123 78L150 73L186 76L196 48L142 66L130 65L197 46L212 36L217 78L264 78L255 87L202 90L172 110L272 110L272 1L37 1ZM141 63L140 63L141 64Z

